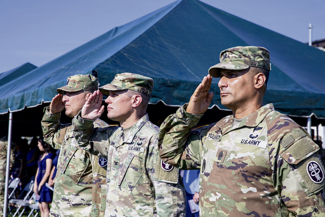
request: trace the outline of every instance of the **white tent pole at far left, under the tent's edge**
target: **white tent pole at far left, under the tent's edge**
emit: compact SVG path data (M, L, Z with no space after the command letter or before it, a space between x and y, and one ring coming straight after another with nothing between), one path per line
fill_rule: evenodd
M12 112L9 112L9 126L8 126L8 147L7 147L7 164L6 164L6 183L5 183L5 202L4 202L4 217L7 216L8 210L8 186L9 186L9 172L10 172L10 151L11 151L11 131L12 131Z

